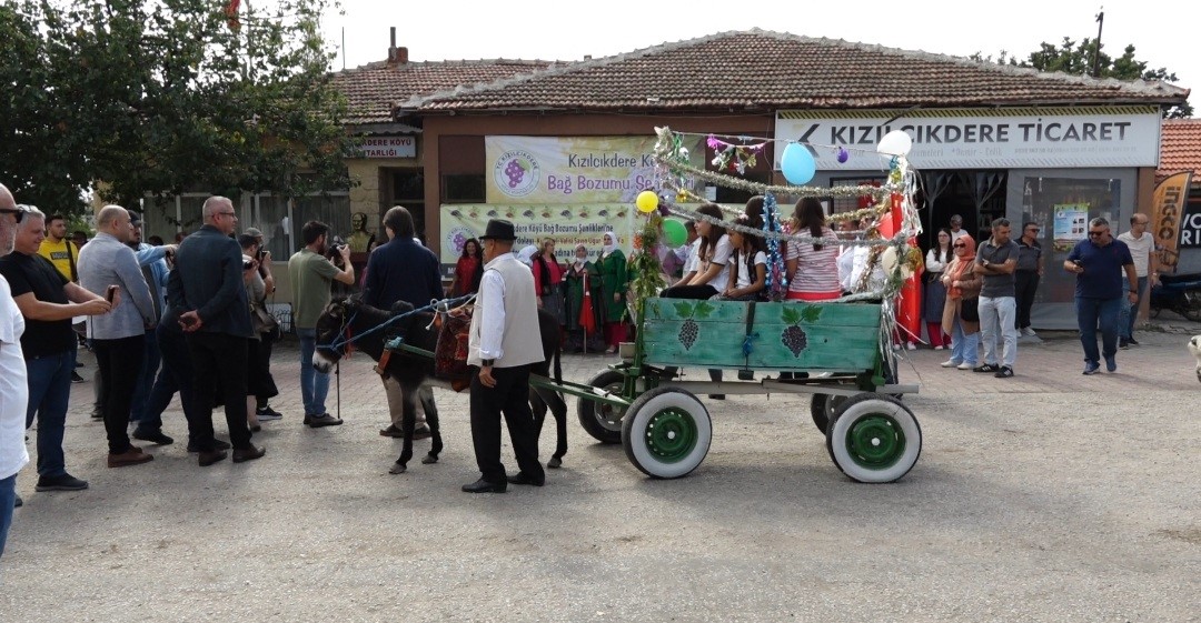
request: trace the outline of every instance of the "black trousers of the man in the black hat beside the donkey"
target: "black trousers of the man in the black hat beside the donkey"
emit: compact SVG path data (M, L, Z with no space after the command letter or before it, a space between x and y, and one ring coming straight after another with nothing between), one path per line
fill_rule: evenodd
M495 388L479 382L479 369L471 375L471 441L476 447L476 465L484 480L503 483L501 463L501 413L509 427L509 441L518 468L534 480L546 477L538 462L538 431L530 411L530 366L494 367Z

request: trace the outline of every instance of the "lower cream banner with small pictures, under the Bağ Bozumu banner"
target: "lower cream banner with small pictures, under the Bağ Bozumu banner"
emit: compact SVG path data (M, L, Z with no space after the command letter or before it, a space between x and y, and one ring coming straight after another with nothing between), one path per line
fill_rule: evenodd
M539 246L549 238L555 241L555 257L560 263L574 258L579 244L587 247L588 259L596 259L604 233L611 230L617 236L617 246L629 257L635 214L638 210L632 204L443 205L441 260L453 265L462 253L464 242L484 233L491 218L513 221L518 234L514 251L526 245Z

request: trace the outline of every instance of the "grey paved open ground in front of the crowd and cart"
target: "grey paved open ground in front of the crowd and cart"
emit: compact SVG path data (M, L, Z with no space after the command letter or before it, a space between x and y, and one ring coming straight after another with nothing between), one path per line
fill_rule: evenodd
M1048 337L1010 379L908 353L925 447L891 485L844 478L807 402L773 395L706 401L709 457L670 481L592 442L573 401L546 487L468 496L466 395L437 393L442 461L388 475L399 442L376 432L369 363L342 367L346 425L310 430L293 349L264 460L201 469L177 444L107 469L76 385L67 462L91 489L35 493L22 474L0 621L1201 621L1187 335L1148 331L1095 377ZM566 361L578 381L604 364Z

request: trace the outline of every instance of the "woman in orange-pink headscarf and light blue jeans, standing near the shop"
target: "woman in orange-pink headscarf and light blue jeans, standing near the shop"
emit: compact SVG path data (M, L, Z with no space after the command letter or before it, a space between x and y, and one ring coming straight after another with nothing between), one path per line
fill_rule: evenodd
M975 239L963 234L955 239L951 250L955 259L943 270L946 302L943 305L943 330L951 334L951 358L943 367L972 370L976 365L980 347L980 315L976 302L984 278L976 275ZM964 313L967 312L967 313Z

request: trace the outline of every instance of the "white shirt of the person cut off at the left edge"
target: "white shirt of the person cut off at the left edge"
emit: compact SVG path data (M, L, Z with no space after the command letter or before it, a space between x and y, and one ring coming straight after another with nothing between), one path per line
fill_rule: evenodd
M0 277L0 479L25 467L25 408L29 405L29 379L20 336L25 318L12 300L8 282Z

